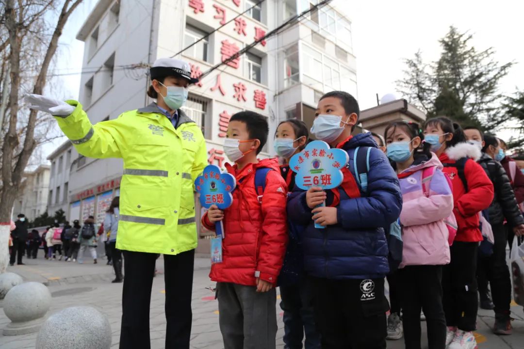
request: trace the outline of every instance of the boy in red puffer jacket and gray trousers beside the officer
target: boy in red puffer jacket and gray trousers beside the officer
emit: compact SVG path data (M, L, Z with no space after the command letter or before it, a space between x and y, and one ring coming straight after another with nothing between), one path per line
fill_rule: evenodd
M242 111L231 117L224 152L235 163L225 165L236 177L233 204L224 211L213 205L202 217L209 230L215 229L215 222L224 224L223 260L211 266L210 277L217 282L226 349L271 349L276 345L275 286L288 239L287 190L278 160L257 160L268 132L266 118L256 112ZM261 168L271 170L260 198L255 174Z

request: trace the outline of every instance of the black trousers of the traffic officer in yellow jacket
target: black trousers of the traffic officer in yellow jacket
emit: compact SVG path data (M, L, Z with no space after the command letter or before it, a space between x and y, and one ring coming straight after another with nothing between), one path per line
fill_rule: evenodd
M149 306L156 253L123 251L124 289L120 349L149 349ZM194 250L164 255L166 349L189 349Z

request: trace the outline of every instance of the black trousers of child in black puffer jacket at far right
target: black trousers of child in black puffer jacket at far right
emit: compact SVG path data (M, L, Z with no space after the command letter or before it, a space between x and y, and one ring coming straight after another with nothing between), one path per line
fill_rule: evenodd
M492 291L496 314L509 314L511 302L511 279L506 263L506 244L508 243L507 228L504 224L493 224L493 254L478 255L478 288L487 289L489 282ZM481 288L482 287L482 288Z

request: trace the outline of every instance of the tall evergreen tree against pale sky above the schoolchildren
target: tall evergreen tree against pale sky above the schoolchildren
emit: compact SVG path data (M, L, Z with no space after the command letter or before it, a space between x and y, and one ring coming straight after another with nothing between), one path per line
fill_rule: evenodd
M514 62L500 64L493 48L479 52L471 40L472 35L450 27L439 40L438 61L424 63L420 51L405 60L407 69L397 82L398 90L429 118L444 115L463 127L494 131L508 120L498 85Z

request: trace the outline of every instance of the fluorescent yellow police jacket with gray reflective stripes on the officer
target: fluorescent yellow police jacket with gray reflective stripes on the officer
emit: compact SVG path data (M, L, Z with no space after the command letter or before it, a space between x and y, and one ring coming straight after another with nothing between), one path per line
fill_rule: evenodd
M91 125L82 105L58 125L84 156L122 157L116 247L179 254L196 247L194 180L207 164L204 136L183 111L175 129L155 103Z

